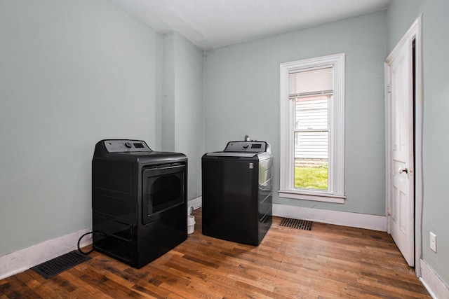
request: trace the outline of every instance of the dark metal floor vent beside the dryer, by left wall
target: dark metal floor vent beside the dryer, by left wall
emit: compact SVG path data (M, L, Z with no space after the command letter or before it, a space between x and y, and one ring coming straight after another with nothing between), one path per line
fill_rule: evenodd
M62 256L58 256L58 258L53 258L51 260L47 260L45 263L41 263L40 265L36 265L31 269L38 274L41 274L42 277L49 279L65 270L69 270L71 267L79 265L86 260L90 260L91 257L85 256L78 251L74 250L69 253L65 253Z

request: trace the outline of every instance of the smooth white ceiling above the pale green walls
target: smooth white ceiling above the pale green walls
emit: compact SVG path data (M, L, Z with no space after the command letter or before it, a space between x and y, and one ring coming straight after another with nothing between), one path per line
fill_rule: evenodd
M342 20L387 8L391 0L111 0L164 34L203 50Z

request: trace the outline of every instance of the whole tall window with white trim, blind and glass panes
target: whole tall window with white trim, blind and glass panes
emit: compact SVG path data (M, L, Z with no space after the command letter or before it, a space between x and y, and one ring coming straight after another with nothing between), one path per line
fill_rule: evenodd
M281 64L279 196L344 202L344 54Z

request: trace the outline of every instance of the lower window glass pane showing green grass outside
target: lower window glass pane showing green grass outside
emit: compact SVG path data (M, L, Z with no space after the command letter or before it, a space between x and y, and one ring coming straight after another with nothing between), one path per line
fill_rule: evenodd
M328 133L295 132L295 188L328 190Z

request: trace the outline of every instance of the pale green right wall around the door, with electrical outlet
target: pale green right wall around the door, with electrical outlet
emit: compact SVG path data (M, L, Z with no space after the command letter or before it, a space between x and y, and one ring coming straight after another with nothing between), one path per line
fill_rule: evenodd
M388 51L422 14L423 64L423 259L449 285L449 2L394 0L388 8ZM437 253L430 250L429 232L436 234Z

